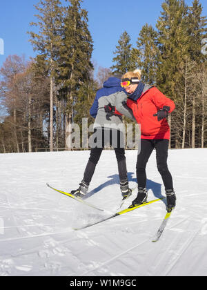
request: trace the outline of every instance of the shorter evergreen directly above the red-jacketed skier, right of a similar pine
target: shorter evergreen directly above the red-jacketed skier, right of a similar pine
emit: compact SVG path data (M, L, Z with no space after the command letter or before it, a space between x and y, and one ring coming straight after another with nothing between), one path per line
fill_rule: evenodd
M157 32L148 23L139 32L137 50L139 51L138 64L142 70L142 79L148 84L155 84L159 54Z

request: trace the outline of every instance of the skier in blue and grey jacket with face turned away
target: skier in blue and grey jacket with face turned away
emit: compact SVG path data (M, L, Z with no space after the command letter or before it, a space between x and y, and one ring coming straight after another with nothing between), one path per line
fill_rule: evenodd
M91 139L96 142L91 146L90 157L79 188L71 191L73 195L86 197L89 184L95 173L95 168L99 162L103 148L108 144L115 150L121 194L124 199L131 195L131 189L128 187L124 133L121 130L121 126L124 125L121 114L115 108L117 97L119 97L120 100L126 98L126 93L120 83L121 81L119 78L109 77L108 80L103 83L103 88L97 91L95 100L90 108L90 115L95 118L94 133ZM135 120L132 110L127 106L124 108L124 115Z

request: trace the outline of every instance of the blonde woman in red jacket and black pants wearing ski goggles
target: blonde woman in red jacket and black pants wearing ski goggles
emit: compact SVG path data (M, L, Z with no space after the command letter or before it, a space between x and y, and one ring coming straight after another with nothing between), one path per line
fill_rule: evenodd
M124 106L128 106L137 121L141 124L141 151L137 157L138 194L132 202L137 206L146 202L146 164L156 149L157 169L164 182L167 209L172 211L176 205L176 195L173 189L172 175L168 170L168 145L170 127L167 122L168 114L175 109L175 104L161 93L155 86L149 86L140 81L141 70L126 72L121 79L121 86L125 88L126 102L119 102L115 106L124 115Z

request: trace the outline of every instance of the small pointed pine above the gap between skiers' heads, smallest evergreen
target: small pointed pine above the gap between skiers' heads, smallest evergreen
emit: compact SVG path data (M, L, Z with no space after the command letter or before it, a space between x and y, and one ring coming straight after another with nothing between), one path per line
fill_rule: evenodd
M118 41L119 45L116 46L116 50L114 55L117 55L112 59L112 62L115 65L111 66L111 70L118 74L124 74L127 71L131 70L132 62L131 62L131 47L130 43L130 35L126 31L121 34L121 37ZM136 67L135 67L136 68ZM134 68L134 69L135 69Z

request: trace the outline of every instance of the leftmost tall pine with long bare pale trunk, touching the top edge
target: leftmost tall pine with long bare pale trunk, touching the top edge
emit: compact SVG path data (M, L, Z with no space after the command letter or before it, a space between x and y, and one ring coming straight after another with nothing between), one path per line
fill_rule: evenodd
M32 22L31 26L39 28L39 32L29 32L30 42L45 61L50 77L50 151L53 151L53 101L54 78L57 68L59 46L61 46L62 8L59 0L40 0L34 6L40 14L35 15L38 23Z

